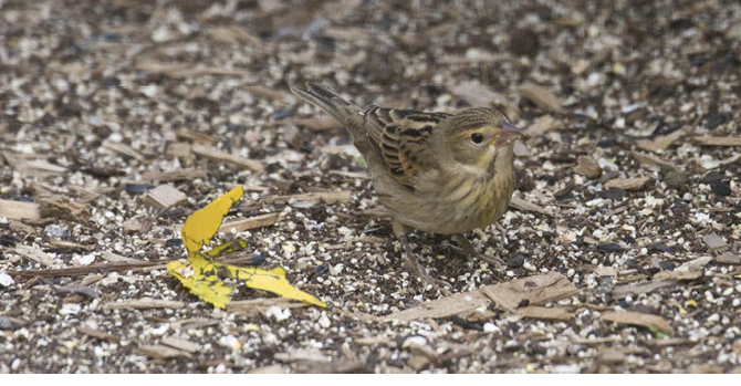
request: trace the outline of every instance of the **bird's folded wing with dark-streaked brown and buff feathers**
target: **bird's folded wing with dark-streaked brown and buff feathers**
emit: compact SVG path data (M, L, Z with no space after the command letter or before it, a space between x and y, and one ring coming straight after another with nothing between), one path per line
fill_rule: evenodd
M389 176L414 189L415 175L436 167L429 137L450 114L368 106L365 129Z

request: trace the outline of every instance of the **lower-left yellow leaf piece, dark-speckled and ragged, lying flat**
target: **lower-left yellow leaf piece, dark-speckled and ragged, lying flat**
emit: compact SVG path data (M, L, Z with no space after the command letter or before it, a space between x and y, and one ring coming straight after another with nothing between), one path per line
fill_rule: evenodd
M212 262L199 253L191 254L188 261L170 261L167 270L190 292L213 306L223 309L229 303L232 289L226 286L216 274Z

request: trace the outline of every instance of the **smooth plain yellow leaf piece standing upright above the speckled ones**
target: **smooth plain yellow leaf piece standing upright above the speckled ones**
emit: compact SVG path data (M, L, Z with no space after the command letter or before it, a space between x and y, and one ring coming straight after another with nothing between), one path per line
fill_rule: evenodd
M209 246L211 238L219 230L223 217L229 209L239 201L244 194L242 187L236 187L228 194L217 198L207 205L206 208L190 215L186 220L180 233L182 234L182 244L188 250L188 254L198 252L203 244Z

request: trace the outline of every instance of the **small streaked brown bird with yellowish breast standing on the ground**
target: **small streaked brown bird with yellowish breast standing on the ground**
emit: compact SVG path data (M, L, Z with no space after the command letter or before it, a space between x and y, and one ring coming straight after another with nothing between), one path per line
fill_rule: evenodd
M406 261L426 283L441 281L430 278L415 259L407 227L456 234L468 254L501 265L500 259L477 253L463 233L490 226L512 197L512 148L523 133L504 114L486 107L456 115L361 108L320 84L291 91L332 114L351 133L378 199L390 212Z

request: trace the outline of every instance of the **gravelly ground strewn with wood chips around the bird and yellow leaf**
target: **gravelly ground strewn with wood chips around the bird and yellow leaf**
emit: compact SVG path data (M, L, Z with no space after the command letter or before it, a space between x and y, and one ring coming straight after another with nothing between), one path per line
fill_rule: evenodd
M735 0L0 0L0 373L741 372L740 74ZM411 241L453 293L574 293L388 321L443 295L304 81L505 111L532 135L519 200L469 238L508 270ZM231 259L327 309L239 288L215 310L165 270L238 185L227 221L279 215L220 233L249 243Z

